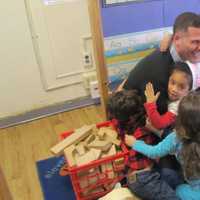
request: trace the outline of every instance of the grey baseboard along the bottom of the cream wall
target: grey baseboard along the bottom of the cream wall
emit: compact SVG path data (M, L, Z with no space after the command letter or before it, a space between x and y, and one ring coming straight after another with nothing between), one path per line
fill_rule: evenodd
M40 108L17 116L2 118L0 119L0 128L7 128L10 126L19 125L43 117L99 103L100 99L91 99L91 97L84 97L73 101L62 102L60 104Z

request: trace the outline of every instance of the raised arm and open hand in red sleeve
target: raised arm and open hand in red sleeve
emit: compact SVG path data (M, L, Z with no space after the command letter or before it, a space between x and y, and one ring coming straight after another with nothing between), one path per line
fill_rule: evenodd
M153 85L151 83L146 85L144 93L146 96L146 103L144 104L144 107L152 125L157 129L166 128L171 125L175 121L176 115L172 112L166 112L165 114L160 115L157 111L156 101L160 93L157 92L154 94Z

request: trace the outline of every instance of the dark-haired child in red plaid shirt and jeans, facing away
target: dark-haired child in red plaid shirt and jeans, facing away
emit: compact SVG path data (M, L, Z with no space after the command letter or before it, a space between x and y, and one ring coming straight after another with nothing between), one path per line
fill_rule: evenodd
M155 144L156 136L145 128L146 113L140 96L133 90L114 93L108 101L108 113L117 121L119 136L124 141L125 134L148 144ZM179 200L175 191L162 180L155 161L130 150L126 160L127 184L138 197L148 200Z

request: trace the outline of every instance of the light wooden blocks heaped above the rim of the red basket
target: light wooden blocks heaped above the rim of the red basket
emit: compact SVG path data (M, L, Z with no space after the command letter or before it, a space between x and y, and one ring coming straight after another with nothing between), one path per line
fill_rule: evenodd
M64 153L70 167L80 166L115 155L115 145L120 145L117 136L117 132L110 127L97 129L95 125L85 125L53 146L51 152L55 155Z

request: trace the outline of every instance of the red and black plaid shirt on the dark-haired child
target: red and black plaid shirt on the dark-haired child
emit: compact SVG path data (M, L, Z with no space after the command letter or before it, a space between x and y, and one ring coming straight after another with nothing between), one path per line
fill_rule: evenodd
M117 120L112 120L112 125L115 128L118 127ZM145 128L137 128L134 131L133 136L136 139L143 140L146 144L155 144L156 142L156 136L147 131ZM145 169L153 163L153 160L149 159L148 157L144 156L139 152L134 151L133 149L129 150L129 156L125 159L125 164L132 170Z

